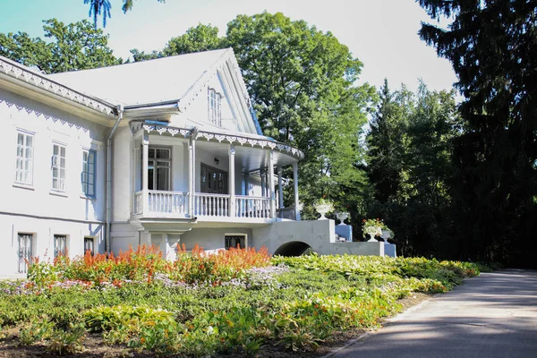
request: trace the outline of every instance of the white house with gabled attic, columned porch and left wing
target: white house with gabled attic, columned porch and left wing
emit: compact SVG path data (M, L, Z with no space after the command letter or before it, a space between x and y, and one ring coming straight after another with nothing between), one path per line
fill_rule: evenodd
M0 275L65 251L259 247L300 215L303 153L262 135L231 48L54 75L0 57L0 121Z

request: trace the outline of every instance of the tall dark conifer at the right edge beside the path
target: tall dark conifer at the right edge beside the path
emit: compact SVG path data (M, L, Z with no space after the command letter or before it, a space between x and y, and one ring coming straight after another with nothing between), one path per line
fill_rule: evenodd
M420 4L433 19L454 19L447 29L424 23L420 35L453 64L465 96L455 148L460 254L529 264L537 248L523 240L537 229L537 2Z

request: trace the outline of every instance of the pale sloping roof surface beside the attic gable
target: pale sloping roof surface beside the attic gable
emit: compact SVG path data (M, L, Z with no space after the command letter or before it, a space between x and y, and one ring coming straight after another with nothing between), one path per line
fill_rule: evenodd
M197 82L226 60L231 48L175 55L154 60L119 64L92 70L49 75L65 85L126 106L181 101Z

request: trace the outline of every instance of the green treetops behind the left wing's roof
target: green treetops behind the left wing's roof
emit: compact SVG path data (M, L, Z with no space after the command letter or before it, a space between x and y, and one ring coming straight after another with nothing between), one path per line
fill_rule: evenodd
M45 37L28 34L0 34L0 55L21 64L37 66L46 73L87 70L121 64L108 47L108 36L83 20L65 25L55 19L43 21Z

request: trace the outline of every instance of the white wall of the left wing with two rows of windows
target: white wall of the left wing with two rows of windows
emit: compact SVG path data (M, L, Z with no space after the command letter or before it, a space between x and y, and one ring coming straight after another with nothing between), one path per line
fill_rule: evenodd
M18 269L18 233L34 235L33 255L54 254L54 234L67 235L70 256L83 253L84 236L104 251L106 137L108 128L60 109L0 90L0 275ZM33 135L30 184L15 183L18 132ZM65 191L52 190L53 143L65 146ZM82 193L84 149L97 152L96 196Z

